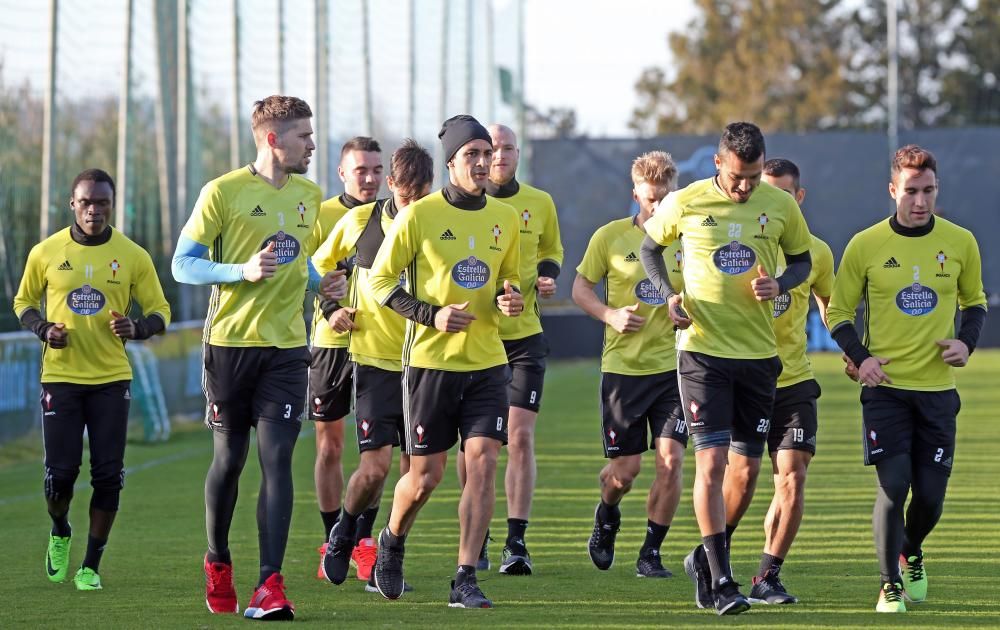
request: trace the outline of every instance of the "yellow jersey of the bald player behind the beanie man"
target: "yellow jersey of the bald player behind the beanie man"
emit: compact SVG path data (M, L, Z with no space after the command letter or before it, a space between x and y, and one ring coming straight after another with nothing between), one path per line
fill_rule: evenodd
M559 217L551 195L527 184L518 183L518 191L498 198L512 206L518 214L521 229L521 291L524 313L520 317L500 318L500 338L504 341L524 339L542 332L541 311L538 307L538 263L551 261L562 266L563 247L559 238Z

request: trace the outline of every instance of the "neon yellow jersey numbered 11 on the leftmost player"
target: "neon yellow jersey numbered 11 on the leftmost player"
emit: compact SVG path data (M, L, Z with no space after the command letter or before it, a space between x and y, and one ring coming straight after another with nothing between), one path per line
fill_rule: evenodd
M170 324L170 305L146 250L112 228L102 245L81 245L60 230L31 248L14 297L20 319L29 308L66 325L68 345L43 344L43 383L100 385L131 380L125 343L111 332L111 311L128 314L135 300L145 316Z

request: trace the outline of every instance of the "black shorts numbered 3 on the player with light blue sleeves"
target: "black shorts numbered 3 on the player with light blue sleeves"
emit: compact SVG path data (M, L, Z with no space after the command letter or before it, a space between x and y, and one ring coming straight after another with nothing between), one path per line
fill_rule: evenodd
M205 345L205 424L213 431L246 433L265 420L300 424L306 399L309 350Z

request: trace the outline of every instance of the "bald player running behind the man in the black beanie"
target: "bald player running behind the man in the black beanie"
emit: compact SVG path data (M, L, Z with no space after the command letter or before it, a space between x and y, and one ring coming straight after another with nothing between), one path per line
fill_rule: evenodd
M517 181L521 155L517 136L505 125L488 128L493 142L493 163L486 194L514 207L521 223L521 283L524 314L500 320L500 339L511 369L510 412L507 420L507 540L500 561L500 573L531 575L531 555L524 542L535 492L535 422L542 404L545 357L549 344L542 332L537 298L549 299L556 292L556 278L562 265L563 247L559 239L559 219L552 197L543 190ZM534 290L530 290L534 287ZM458 455L458 472L465 484L465 457ZM490 568L487 551L489 530L480 550L477 569Z

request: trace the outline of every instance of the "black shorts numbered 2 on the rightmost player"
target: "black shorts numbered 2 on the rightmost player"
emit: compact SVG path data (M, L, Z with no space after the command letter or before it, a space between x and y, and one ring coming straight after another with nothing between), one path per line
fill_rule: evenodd
M861 389L865 464L909 453L913 463L951 474L958 391L918 392L894 387Z

